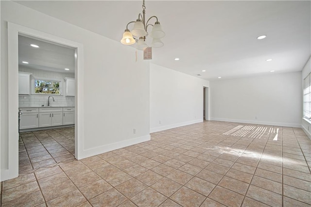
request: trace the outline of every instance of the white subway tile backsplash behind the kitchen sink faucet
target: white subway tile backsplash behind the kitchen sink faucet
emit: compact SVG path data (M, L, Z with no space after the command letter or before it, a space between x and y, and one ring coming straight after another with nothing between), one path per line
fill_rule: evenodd
M40 107L48 106L48 95L19 95L18 107ZM74 107L74 97L54 95L54 102L50 98L51 106Z

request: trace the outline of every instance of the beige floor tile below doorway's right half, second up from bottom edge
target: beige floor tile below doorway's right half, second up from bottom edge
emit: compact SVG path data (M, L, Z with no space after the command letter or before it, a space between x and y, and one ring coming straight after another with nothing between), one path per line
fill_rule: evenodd
M70 180L58 183L48 188L42 189L43 196L46 201L50 201L58 196L68 193L77 188L73 185Z

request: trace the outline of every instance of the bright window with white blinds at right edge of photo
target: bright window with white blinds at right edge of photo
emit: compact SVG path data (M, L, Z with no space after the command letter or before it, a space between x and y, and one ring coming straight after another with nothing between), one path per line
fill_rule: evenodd
M311 73L303 80L303 117L311 119Z

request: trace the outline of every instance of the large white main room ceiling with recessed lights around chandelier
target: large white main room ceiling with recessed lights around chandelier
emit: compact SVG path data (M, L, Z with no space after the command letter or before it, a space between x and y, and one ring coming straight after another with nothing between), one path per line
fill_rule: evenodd
M140 0L16 2L119 42L126 24L142 12ZM214 80L300 71L311 55L311 1L145 4L146 17L157 16L166 33L164 47L153 49L152 63L160 66Z

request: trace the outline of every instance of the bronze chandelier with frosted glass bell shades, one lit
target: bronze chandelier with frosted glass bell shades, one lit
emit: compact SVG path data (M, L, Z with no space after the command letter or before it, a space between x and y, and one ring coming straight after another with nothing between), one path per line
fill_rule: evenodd
M156 16L150 17L146 21L146 6L145 6L145 0L142 1L142 15L139 13L138 19L136 21L130 21L126 25L126 29L123 33L123 37L121 39L121 43L124 45L132 45L136 43L137 41L137 49L138 50L144 50L148 47L146 37L148 36L147 28L148 26L152 26L152 31L150 33L150 36L153 38L151 46L155 48L160 48L164 45L161 38L165 36L165 33L162 30L162 27L160 25L160 22L158 21ZM155 24L148 24L150 19L155 18ZM128 29L128 25L134 23L134 27L132 31ZM133 37L134 36L134 37Z

